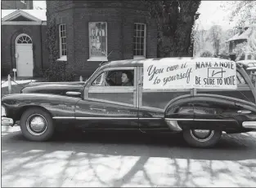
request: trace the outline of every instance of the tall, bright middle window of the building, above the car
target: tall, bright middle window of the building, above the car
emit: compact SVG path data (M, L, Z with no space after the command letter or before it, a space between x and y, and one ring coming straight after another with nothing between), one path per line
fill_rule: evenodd
M107 24L106 22L89 23L90 59L107 61Z

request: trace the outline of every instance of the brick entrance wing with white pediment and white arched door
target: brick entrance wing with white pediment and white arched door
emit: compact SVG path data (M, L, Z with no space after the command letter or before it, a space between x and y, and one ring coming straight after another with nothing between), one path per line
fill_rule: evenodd
M47 68L46 10L2 10L2 77L36 77Z

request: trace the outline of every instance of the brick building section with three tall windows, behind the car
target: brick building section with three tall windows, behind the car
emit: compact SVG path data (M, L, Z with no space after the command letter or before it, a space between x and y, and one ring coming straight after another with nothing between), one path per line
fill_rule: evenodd
M59 60L89 77L102 61L155 58L157 27L141 1L47 1L59 29Z

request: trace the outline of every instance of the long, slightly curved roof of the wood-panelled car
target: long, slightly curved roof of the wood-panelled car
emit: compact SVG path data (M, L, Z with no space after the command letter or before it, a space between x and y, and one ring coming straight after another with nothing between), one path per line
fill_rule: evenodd
M231 60L228 60L228 59L220 59L220 58L204 58L204 57L196 57L196 58L193 58L193 57L172 57L172 58L155 58L155 59L125 59L125 60L116 60L116 61L110 61L110 62L106 62L106 63L103 63L101 64L101 68L113 68L113 67L135 67L135 66L143 66L143 64L147 61L161 61L161 60L170 60L170 61L173 61L173 60L176 60L177 61L189 61L189 60L192 60L192 59L198 59L200 61L205 61L205 62L216 62L216 61L231 61Z

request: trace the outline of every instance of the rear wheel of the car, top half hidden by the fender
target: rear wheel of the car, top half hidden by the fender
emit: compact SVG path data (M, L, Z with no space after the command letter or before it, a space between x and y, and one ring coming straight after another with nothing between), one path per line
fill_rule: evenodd
M183 138L190 146L211 147L217 144L222 136L222 130L183 130Z

